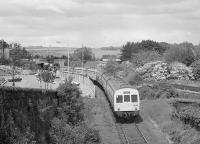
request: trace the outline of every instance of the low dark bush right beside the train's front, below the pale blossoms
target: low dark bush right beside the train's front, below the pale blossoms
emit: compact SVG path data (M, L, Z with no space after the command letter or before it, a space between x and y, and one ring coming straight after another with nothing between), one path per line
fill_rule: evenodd
M166 83L157 83L151 85L145 85L139 88L141 99L159 99L159 98L171 98L179 97L175 88Z

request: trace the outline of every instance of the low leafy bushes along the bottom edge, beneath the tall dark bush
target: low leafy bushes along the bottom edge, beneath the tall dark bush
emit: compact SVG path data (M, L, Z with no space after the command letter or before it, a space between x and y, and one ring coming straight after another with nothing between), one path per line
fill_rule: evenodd
M100 136L98 131L88 128L85 124L72 127L63 120L54 118L50 130L52 144L90 144L99 143Z

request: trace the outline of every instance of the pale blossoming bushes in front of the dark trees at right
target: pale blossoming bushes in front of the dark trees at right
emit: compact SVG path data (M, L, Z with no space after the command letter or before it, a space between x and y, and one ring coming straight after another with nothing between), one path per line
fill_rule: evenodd
M187 67L182 63L167 64L162 61L146 63L144 66L136 69L136 72L144 80L160 81L167 79L189 80L194 79L192 68Z

